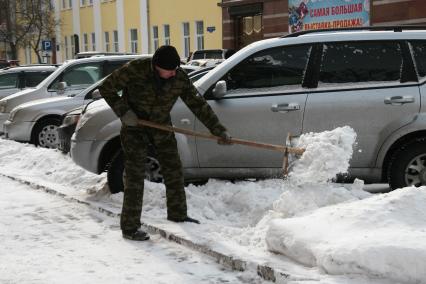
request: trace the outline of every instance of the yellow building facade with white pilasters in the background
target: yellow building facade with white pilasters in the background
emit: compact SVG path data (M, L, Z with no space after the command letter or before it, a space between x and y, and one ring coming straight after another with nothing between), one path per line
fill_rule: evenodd
M174 45L182 58L198 49L222 48L222 9L217 0L53 0L60 21L56 60L78 52L153 53ZM36 63L29 49L21 63Z

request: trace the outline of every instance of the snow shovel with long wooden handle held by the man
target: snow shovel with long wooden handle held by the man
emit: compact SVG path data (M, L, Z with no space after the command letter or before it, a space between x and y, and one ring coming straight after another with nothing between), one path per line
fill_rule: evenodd
M197 131L178 128L178 127L169 126L169 125L162 125L162 124L158 124L158 123L143 120L143 119L139 119L138 124L140 126L147 126L147 127L156 128L156 129L160 129L160 130L164 130L164 131L168 131L168 132L177 132L177 133L181 133L181 134L185 134L185 135L189 135L189 136L206 138L206 139L215 140L215 141L222 139L221 137L215 136L215 135L212 135L212 134L197 132ZM290 134L287 136L287 143L289 143L289 141L290 141ZM287 174L288 174L288 155L289 154L302 155L303 152L305 152L304 148L296 148L296 147L290 147L290 146L275 145L275 144L268 144L268 143L262 143L262 142L254 142L254 141L238 139L238 138L231 138L231 142L233 144L246 145L246 146L249 146L249 147L268 149L268 150L273 150L273 151L278 151L278 152L284 153L284 161L283 161L283 174L284 174L284 176L287 176Z

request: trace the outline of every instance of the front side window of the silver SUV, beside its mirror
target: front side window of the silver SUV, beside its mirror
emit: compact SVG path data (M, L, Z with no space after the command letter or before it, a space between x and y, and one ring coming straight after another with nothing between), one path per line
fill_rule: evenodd
M310 46L275 47L260 51L234 67L222 80L229 90L300 87Z

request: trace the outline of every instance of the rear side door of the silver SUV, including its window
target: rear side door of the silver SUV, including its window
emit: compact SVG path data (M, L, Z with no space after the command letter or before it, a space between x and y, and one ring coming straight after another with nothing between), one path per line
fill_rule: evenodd
M408 47L397 41L330 42L321 52L303 132L351 126L357 133L351 167L374 168L386 138L420 109Z

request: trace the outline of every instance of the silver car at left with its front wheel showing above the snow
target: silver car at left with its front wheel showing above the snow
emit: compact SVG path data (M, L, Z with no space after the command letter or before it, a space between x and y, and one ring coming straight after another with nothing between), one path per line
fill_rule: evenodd
M75 96L39 99L15 107L4 123L5 137L44 148L58 148L57 128L62 123L62 116L76 107L100 98L96 89L98 85L99 83L95 83Z

